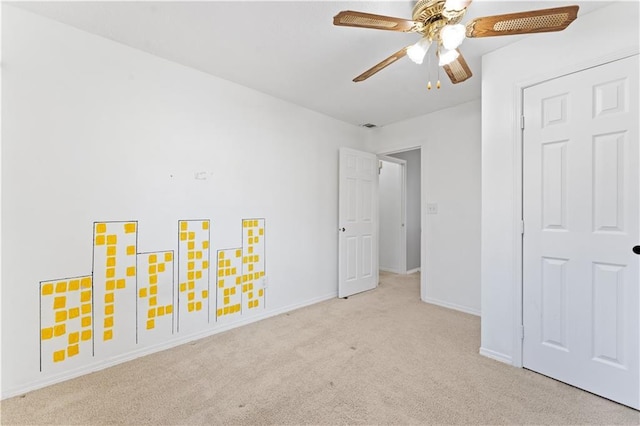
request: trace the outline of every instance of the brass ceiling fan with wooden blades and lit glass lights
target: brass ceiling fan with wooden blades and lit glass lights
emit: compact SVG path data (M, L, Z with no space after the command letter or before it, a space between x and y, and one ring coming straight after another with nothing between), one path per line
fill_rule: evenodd
M343 27L418 33L422 38L404 47L353 79L363 81L402 57L421 64L427 51L435 44L438 65L443 67L453 84L471 77L471 70L458 47L465 37L492 37L562 31L578 16L578 6L530 10L504 15L476 18L460 24L472 0L419 0L413 8L412 20L371 13L344 10L333 18L333 24ZM431 88L431 82L429 82ZM439 82L438 82L439 87Z

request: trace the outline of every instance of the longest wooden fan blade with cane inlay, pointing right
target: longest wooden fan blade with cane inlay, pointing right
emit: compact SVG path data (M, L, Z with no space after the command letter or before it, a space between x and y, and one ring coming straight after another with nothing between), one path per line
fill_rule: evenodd
M578 6L485 16L467 24L467 37L562 31L578 17Z

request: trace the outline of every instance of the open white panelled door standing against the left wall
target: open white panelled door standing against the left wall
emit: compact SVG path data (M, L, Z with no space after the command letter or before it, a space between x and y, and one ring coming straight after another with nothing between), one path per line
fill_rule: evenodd
M378 285L378 159L340 148L338 296Z

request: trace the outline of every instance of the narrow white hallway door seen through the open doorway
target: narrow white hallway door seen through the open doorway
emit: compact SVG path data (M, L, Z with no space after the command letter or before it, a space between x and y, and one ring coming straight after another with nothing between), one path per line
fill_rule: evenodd
M379 269L394 274L407 272L405 227L406 161L380 156L379 173Z

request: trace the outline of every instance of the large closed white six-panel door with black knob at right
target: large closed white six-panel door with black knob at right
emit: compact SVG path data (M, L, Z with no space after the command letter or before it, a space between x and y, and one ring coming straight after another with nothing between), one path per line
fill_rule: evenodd
M524 93L523 365L640 408L638 56Z

